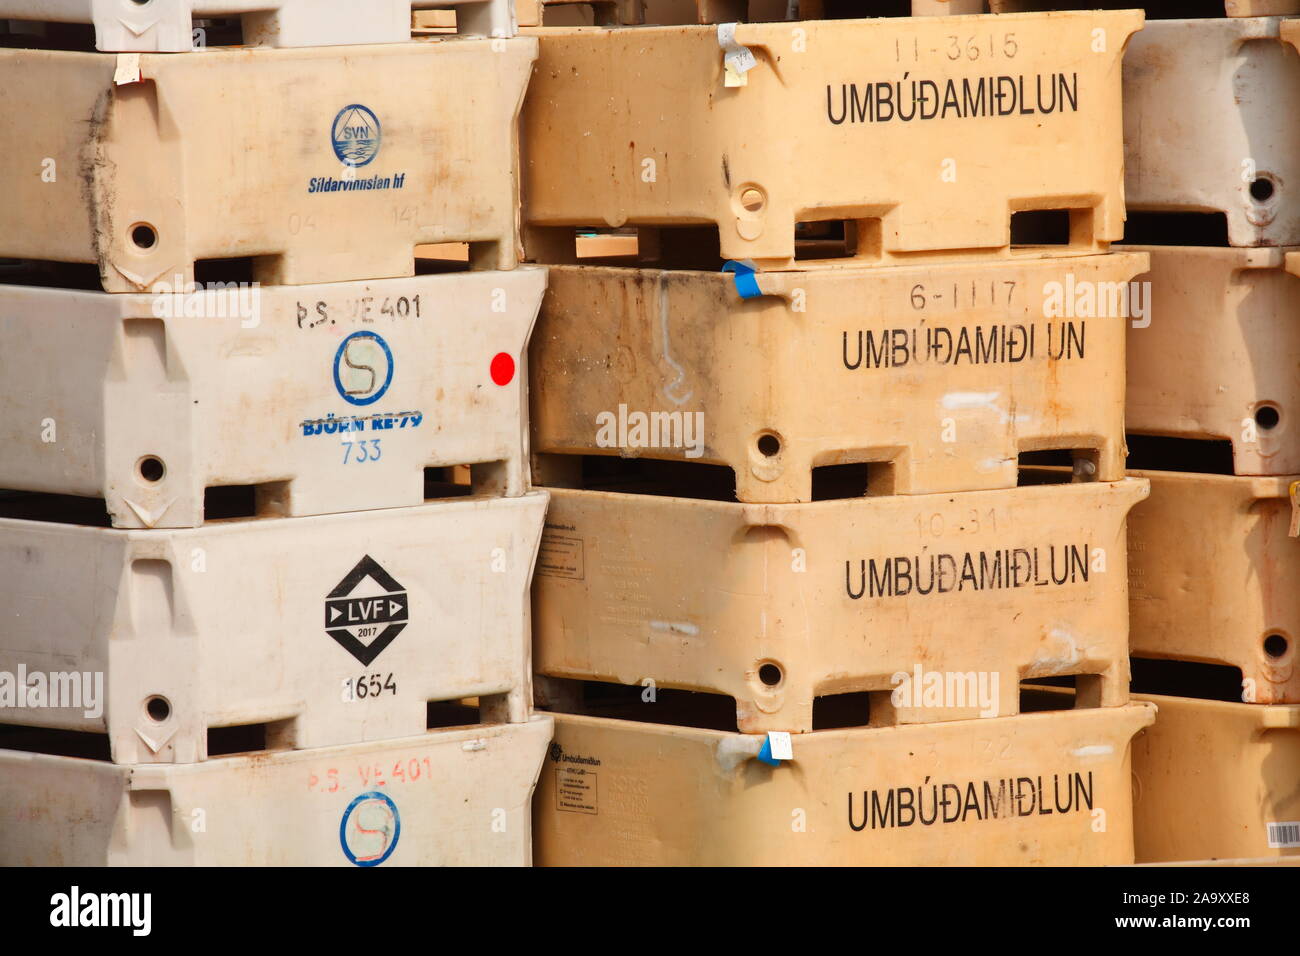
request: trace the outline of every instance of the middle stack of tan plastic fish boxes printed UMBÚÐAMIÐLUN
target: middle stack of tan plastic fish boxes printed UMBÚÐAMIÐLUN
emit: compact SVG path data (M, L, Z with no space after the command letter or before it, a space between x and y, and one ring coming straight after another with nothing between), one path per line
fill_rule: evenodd
M1132 862L1141 22L530 31L538 862Z

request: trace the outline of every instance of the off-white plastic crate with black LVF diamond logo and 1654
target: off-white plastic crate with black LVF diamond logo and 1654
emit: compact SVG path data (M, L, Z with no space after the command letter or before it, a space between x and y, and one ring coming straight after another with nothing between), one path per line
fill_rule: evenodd
M0 671L43 674L47 697L9 688L0 723L107 732L117 763L191 763L213 727L333 747L489 696L485 719L523 721L545 510L533 492L194 531L3 519ZM66 674L79 696L73 678L56 693Z

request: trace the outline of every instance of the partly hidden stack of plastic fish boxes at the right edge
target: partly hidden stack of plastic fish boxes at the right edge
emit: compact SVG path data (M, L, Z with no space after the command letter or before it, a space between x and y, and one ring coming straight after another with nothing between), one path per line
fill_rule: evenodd
M1214 13L1148 22L1123 66L1143 862L1300 855L1300 8Z

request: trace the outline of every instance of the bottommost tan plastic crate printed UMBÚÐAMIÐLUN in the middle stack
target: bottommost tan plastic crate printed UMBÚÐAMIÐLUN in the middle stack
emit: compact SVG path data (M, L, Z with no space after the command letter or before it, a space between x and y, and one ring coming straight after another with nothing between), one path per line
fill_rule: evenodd
M819 731L772 767L753 760L763 736L556 714L536 862L1128 864L1128 744L1153 718L1150 705L1126 705Z

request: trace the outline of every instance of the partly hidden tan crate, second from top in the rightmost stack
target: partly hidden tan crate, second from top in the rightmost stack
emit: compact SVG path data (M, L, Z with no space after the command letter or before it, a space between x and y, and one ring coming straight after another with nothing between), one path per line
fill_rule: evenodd
M1231 441L1238 475L1300 473L1295 254L1134 248L1150 256L1152 321L1128 330L1128 431Z

